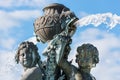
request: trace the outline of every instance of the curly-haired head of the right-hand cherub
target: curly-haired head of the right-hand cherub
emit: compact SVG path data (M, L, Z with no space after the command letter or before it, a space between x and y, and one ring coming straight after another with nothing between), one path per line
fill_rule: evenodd
M99 53L92 44L83 44L77 48L76 62L81 68L95 67L99 62Z

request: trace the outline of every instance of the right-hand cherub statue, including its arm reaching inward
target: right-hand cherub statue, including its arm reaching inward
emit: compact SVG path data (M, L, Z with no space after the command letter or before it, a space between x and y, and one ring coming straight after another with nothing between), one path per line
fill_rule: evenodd
M69 52L70 46L67 45L64 54L69 54ZM76 62L78 63L79 68L68 62L66 58L62 57L58 65L66 76L63 80L96 80L90 71L99 62L98 55L97 48L92 44L83 44L79 46L76 54Z

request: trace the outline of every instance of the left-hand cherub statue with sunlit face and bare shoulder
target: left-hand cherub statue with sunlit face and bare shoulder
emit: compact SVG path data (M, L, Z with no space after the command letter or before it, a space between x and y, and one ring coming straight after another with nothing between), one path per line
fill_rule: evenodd
M32 42L22 42L19 45L15 60L24 68L21 80L43 80L44 74L38 48Z

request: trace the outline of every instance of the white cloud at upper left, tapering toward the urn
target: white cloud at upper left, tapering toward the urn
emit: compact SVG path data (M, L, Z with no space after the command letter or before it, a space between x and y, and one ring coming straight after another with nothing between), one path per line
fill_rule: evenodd
M20 26L20 21L29 20L39 16L39 10L0 11L0 30L9 30Z

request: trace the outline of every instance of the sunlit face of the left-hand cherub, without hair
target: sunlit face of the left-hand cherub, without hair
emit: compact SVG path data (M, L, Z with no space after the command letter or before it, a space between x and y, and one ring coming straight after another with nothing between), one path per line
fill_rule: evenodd
M22 66L31 67L32 62L33 62L32 52L30 52L26 48L21 49L19 53L19 60Z

